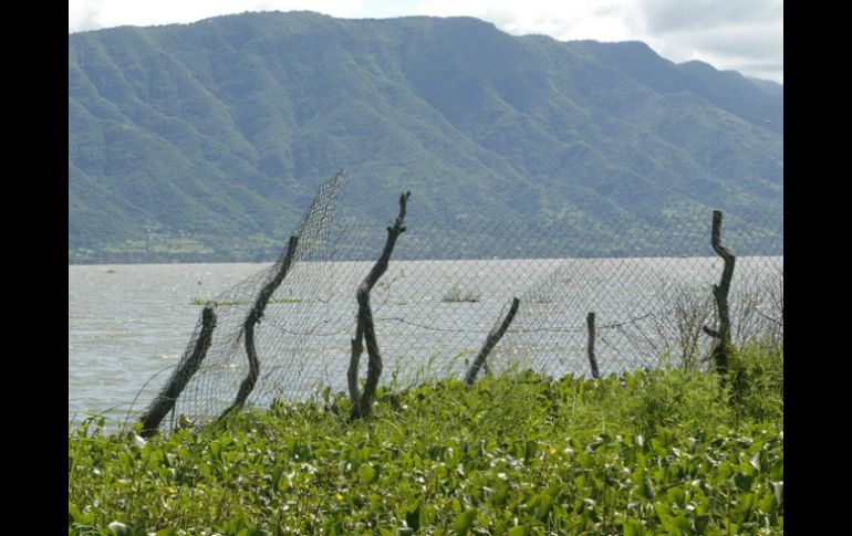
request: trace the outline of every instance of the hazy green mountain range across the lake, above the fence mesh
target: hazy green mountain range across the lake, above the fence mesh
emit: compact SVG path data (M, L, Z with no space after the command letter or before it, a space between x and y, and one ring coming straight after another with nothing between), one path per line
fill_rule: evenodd
M782 92L643 43L471 18L73 33L69 261L271 259L341 168L347 210L381 228L402 190L411 218L450 228L778 211L782 108Z

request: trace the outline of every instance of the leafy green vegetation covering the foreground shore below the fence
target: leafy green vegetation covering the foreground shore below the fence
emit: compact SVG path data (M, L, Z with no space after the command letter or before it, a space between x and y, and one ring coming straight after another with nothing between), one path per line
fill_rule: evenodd
M324 392L144 445L94 418L69 432L69 532L782 534L783 355L732 364L725 388L675 368L382 388L356 422Z

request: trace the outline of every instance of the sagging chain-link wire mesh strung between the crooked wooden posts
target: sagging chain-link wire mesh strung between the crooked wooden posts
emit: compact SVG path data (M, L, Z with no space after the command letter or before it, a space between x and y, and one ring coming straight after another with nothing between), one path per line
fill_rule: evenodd
M355 292L386 234L342 203L346 181L337 174L322 185L276 264L206 305L170 390L152 404L162 413L155 428L174 428L175 416L204 423L246 404L346 390ZM418 218L416 191L411 206L387 272L371 291L382 383L463 378L513 297L517 313L486 370L590 374L590 313L601 375L706 361L713 339L703 327L716 322L710 291L723 266L710 248L709 209L603 223L489 219L450 227ZM388 203L387 221L395 214ZM737 255L735 344L783 338L782 219L781 209L725 214L723 240ZM607 237L617 248L596 254ZM363 378L366 365L361 369Z

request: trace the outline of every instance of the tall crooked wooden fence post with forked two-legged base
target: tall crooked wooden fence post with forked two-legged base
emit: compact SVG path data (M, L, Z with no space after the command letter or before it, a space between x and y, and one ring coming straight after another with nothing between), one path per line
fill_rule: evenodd
M387 271L396 239L405 232L405 210L411 195L412 192L407 191L399 196L399 216L397 216L394 225L387 228L387 241L385 242L382 255L361 285L359 285L356 293L359 303L357 327L355 328L355 338L352 339L352 357L349 371L346 372L350 398L352 399L351 419L361 419L370 416L373 396L378 387L378 378L382 376L382 355L376 341L373 309L370 307L370 291L373 290L378 278ZM367 381L364 385L364 393L359 397L357 370L361 354L364 351L364 343L366 343L370 361L367 362Z

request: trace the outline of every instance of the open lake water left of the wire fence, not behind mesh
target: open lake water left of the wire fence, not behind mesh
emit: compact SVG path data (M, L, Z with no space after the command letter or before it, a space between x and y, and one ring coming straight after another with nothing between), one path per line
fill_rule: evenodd
M69 420L123 417L146 406L168 377L207 299L267 264L69 266Z

